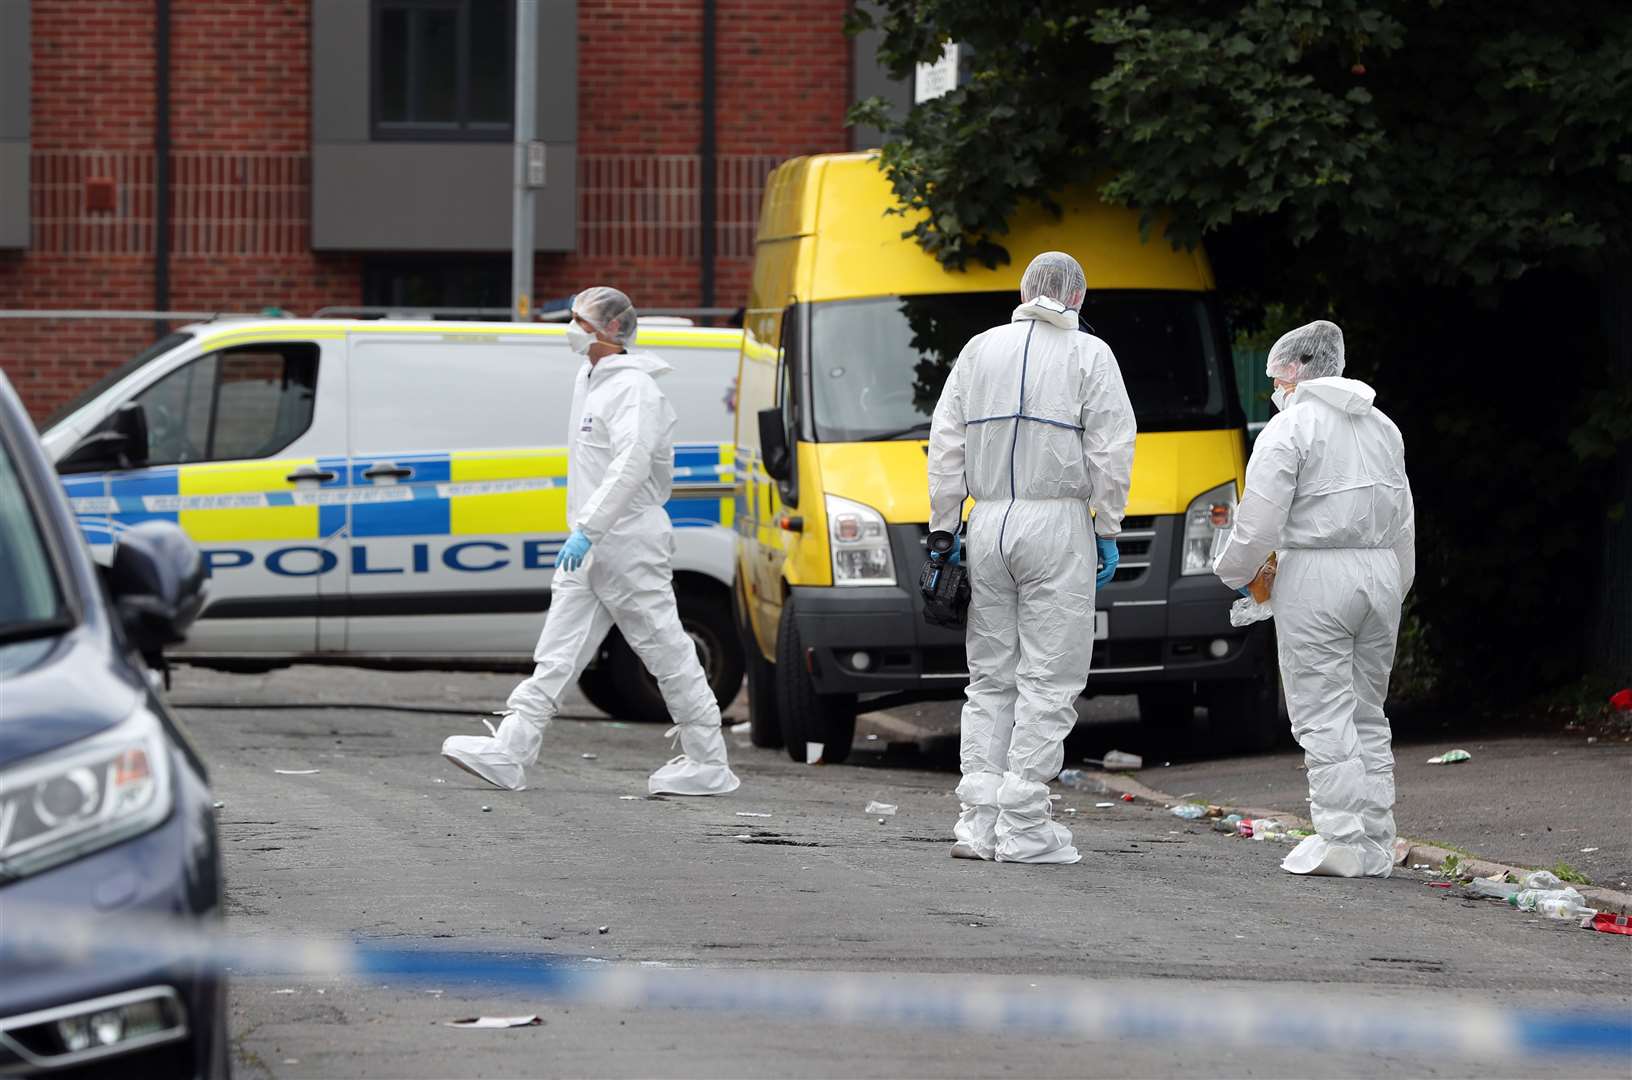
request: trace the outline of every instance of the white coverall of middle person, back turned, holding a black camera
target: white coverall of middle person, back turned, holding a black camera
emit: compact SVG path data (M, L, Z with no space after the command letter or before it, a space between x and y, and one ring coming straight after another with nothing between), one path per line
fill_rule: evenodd
M965 498L974 498L963 555L973 591L963 812L953 832L981 858L1080 858L1071 830L1051 819L1048 781L1093 656L1093 537L1121 532L1133 444L1133 406L1110 346L1048 297L969 341L942 390L929 444L930 530L956 532Z

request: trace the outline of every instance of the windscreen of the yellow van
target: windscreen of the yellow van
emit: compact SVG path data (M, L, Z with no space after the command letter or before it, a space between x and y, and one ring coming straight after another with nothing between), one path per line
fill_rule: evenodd
M969 338L1009 321L1018 295L960 292L811 307L816 439L924 439L947 374ZM1100 290L1082 323L1121 367L1139 431L1227 427L1217 333L1195 292Z

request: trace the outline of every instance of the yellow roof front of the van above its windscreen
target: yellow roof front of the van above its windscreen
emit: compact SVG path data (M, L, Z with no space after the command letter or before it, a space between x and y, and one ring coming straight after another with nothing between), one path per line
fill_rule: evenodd
M1089 289L1213 289L1200 250L1175 251L1160 228L1141 241L1139 210L1106 206L1090 189L1067 191L1058 202L1059 219L1038 204L1022 206L1009 233L997 237L1009 250L1005 266L948 271L901 237L916 219L886 214L896 197L876 152L827 153L793 158L770 176L759 241L814 238L809 261L801 259L809 277L800 282L800 299L808 300L1018 290L1027 263L1056 250L1082 263Z

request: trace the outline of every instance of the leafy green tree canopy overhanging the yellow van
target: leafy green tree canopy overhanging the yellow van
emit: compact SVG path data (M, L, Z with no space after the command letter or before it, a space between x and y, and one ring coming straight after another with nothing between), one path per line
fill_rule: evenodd
M878 0L899 77L947 41L968 85L885 166L943 263L994 263L1022 197L1093 183L1195 245L1268 224L1366 271L1490 284L1632 241L1632 5ZM857 119L889 129L881 101Z

